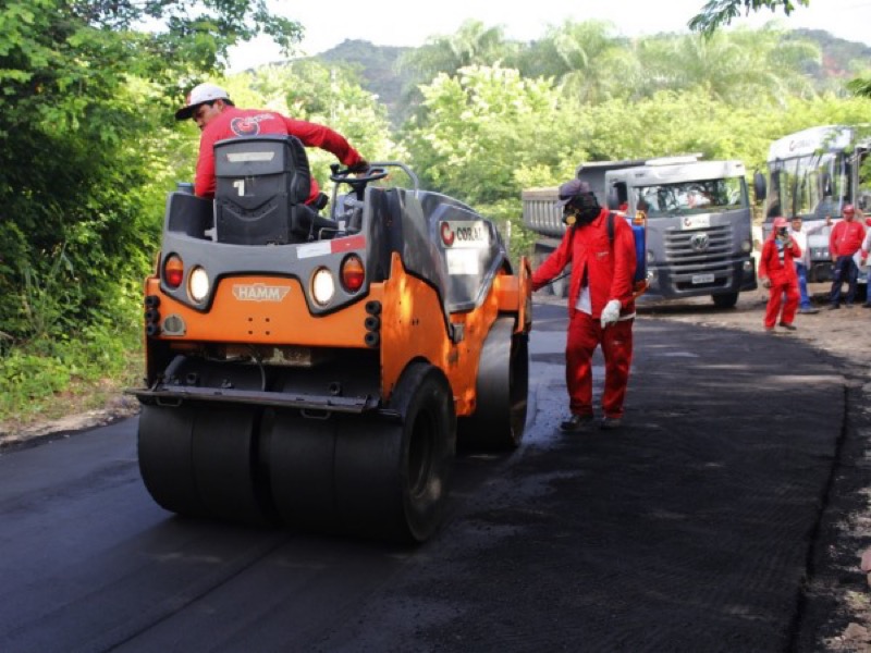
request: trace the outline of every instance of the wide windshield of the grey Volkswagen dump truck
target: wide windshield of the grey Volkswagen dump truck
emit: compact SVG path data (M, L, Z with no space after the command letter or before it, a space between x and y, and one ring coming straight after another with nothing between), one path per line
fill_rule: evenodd
M638 205L643 208L641 202L647 202L647 217L651 220L695 213L722 213L749 206L744 177L639 186L637 193Z

